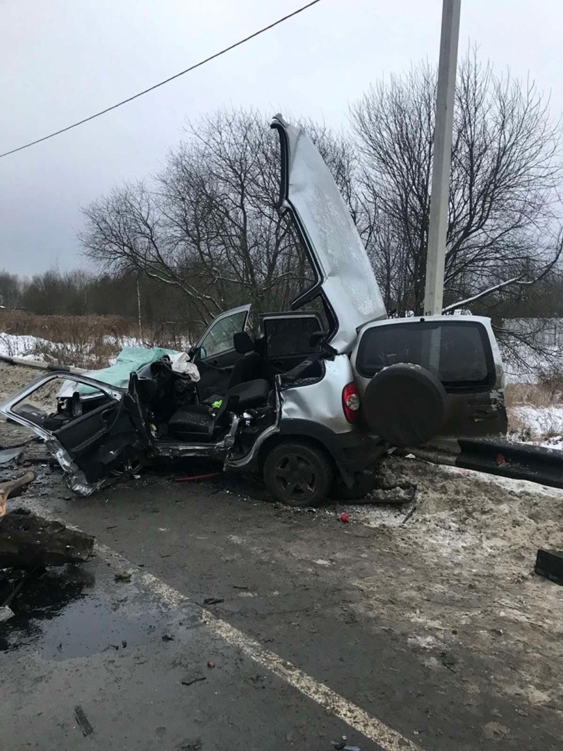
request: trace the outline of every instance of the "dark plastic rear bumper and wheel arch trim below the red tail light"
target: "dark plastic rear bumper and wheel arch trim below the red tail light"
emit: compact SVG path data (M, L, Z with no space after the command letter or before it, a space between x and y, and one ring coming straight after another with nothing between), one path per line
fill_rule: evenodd
M284 438L312 438L322 443L344 472L361 472L375 462L387 445L361 430L334 433L330 428L310 420L281 420L279 434Z

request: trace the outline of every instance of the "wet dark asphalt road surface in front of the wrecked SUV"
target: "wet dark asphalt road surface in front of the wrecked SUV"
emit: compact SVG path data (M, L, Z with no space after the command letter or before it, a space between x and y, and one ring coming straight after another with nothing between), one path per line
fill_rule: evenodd
M406 638L417 550L393 549L393 530L228 479L76 499L40 473L29 504L101 547L0 626L2 751L560 749L561 711L499 690L470 639L429 661Z

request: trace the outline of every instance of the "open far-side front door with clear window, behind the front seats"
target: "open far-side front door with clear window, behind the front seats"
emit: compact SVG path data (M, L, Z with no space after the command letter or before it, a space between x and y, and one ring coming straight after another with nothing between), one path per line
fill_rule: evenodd
M194 347L194 364L200 371L197 392L200 399L227 391L235 363L242 357L233 345L233 336L244 331L250 305L227 310L214 318Z

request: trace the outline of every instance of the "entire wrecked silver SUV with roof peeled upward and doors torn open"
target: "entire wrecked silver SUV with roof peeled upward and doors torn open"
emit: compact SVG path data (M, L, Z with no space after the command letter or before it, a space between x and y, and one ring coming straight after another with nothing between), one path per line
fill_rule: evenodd
M501 358L489 320L387 318L371 264L327 165L300 128L276 116L280 210L303 241L315 283L291 312L250 306L212 321L191 351L200 378L163 357L128 388L48 372L0 407L44 439L71 488L87 495L115 469L212 457L263 476L281 502L315 505L372 488L391 446L506 432ZM321 311L321 312L315 312ZM29 409L51 379L75 385L56 412ZM89 398L80 389L90 387Z

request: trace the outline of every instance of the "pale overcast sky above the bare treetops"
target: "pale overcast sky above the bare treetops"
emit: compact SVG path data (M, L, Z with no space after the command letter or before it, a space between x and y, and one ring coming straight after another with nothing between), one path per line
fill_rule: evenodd
M0 0L0 152L114 104L305 0ZM83 265L80 205L158 169L186 119L221 104L345 122L384 74L438 60L441 0L322 0L203 68L0 160L0 268ZM469 41L563 112L563 2L462 0Z

